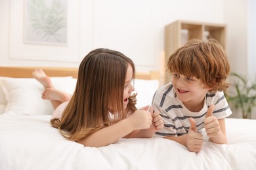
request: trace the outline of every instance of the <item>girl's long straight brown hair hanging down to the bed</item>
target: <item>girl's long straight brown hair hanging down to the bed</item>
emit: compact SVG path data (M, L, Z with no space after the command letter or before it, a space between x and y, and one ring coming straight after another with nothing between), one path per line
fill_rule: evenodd
M131 96L123 109L123 90L128 65L133 61L121 52L98 48L85 56L79 65L74 95L62 113L51 120L53 127L72 141L78 141L106 126L127 117L136 110L136 98ZM110 110L111 106L111 110ZM114 120L110 114L114 114Z

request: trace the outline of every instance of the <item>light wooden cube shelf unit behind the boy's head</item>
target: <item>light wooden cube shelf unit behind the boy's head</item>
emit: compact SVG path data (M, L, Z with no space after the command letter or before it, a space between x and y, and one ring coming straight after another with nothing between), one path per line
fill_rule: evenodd
M226 49L226 25L205 22L177 20L165 26L165 70L167 59L177 48L191 39L215 39ZM165 84L171 81L169 73L165 74Z

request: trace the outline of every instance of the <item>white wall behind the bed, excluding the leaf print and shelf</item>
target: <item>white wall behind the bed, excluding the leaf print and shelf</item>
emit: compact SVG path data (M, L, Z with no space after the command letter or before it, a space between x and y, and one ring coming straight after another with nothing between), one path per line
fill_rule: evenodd
M137 71L161 70L164 26L175 20L227 24L231 70L256 75L254 0L68 0L68 43L24 43L23 0L0 0L0 65L78 67L95 48L119 50Z

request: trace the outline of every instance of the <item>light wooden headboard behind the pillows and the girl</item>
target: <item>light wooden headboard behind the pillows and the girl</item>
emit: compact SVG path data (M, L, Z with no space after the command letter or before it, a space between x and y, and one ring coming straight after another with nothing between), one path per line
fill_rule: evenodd
M77 78L78 68L68 67L0 67L0 76L9 76L14 78L31 78L35 69L43 69L48 76L73 76ZM135 78L144 80L160 80L159 71L150 71L149 73L136 73Z

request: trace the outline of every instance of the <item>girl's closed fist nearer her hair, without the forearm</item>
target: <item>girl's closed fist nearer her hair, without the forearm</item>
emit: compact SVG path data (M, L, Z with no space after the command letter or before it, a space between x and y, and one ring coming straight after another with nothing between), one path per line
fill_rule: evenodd
M152 124L151 113L146 110L136 110L127 120L129 120L134 130L148 129Z

